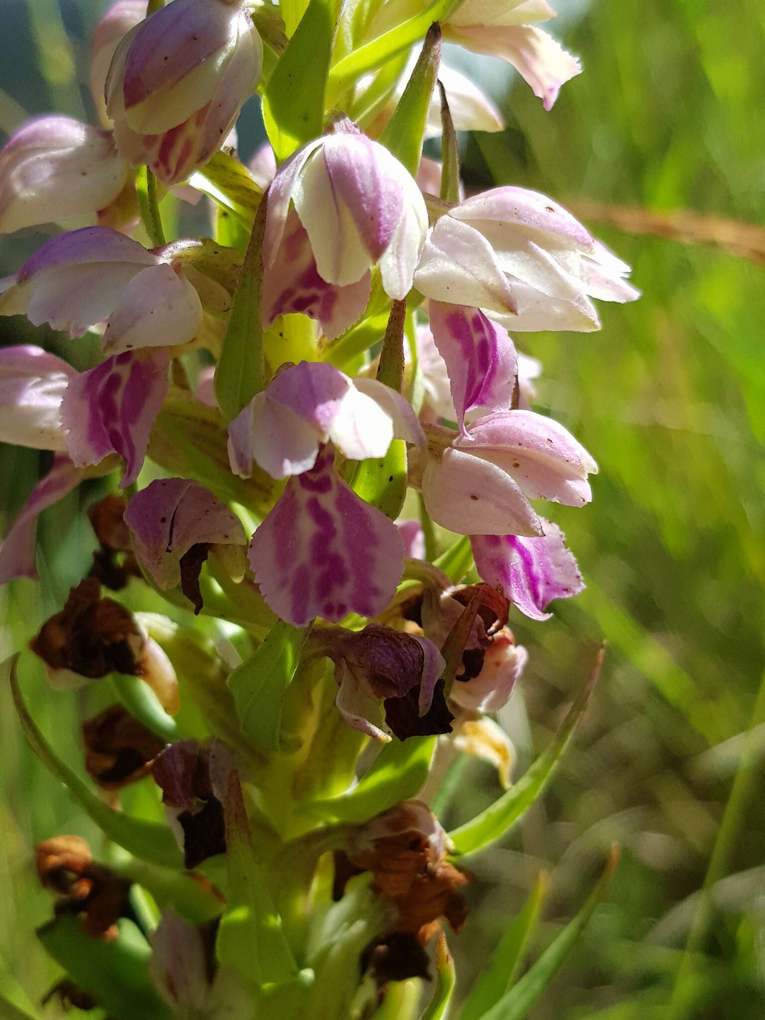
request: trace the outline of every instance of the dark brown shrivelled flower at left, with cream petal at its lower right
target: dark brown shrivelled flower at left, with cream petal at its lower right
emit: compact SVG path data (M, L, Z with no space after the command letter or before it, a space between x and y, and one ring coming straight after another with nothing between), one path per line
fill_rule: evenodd
M140 676L143 644L133 614L113 599L102 599L99 582L86 577L69 592L64 608L43 624L30 648L52 670L98 679L112 672Z

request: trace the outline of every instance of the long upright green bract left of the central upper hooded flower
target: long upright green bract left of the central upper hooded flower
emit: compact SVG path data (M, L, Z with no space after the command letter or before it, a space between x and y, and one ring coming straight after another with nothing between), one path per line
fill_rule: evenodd
M258 206L247 246L237 293L234 295L228 328L225 330L215 369L215 396L228 421L265 386L263 327L260 320L260 285L263 275L262 246L268 197Z

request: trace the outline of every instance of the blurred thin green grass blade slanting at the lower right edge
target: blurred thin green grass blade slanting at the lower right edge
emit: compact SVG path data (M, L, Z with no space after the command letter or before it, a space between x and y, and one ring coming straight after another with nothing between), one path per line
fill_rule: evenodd
M765 722L765 672L760 679L760 688L752 711L738 768L725 804L720 827L717 830L712 854L700 892L699 905L691 925L685 950L677 969L672 996L669 1001L669 1020L686 1020L694 1010L694 972L700 959L701 950L709 931L713 914L712 890L725 876L730 853L735 845L747 806L752 800L758 778L758 751L756 731Z

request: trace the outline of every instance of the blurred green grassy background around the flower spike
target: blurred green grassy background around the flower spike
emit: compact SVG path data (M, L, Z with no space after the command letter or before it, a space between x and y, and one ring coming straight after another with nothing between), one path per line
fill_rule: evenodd
M46 109L89 115L88 40L105 6L4 0L0 129ZM765 5L558 6L566 16L553 31L581 56L584 73L564 86L550 113L513 83L501 97L507 130L467 140L468 184L520 184L574 210L586 199L661 215L694 210L741 231L759 223L762 236L752 235L750 247L756 255L759 244L760 261L714 244L624 233L608 225L606 208L585 221L633 266L642 301L602 305L599 334L516 338L544 363L539 409L567 424L601 469L592 506L554 515L586 592L558 604L547 623L515 620L531 652L522 698L506 719L519 768L546 745L601 640L609 652L544 807L475 862L473 912L450 944L467 984L543 868L551 892L538 951L583 901L617 842L621 863L607 902L533 1016L761 1020ZM244 155L256 120L248 110ZM729 230L735 237L740 228ZM715 237L719 224L702 221L697 234ZM40 240L5 239L0 269L13 271ZM0 320L0 330L1 343L33 336L15 320ZM89 356L52 335L42 343L65 349L74 363ZM3 530L44 460L0 447ZM76 497L91 499L87 491ZM45 515L41 536L42 588L21 581L0 594L0 657L60 606L85 570L91 539L75 498ZM79 763L80 699L51 694L41 677L28 690L41 726ZM0 954L39 1000L56 972L33 933L51 905L34 880L32 848L60 831L99 842L26 750L5 688L0 741ZM467 780L451 823L497 796L488 768L472 766Z

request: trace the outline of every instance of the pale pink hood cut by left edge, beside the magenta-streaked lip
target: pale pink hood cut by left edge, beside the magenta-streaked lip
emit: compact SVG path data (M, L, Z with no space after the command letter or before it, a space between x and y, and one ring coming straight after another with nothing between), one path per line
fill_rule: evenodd
M61 399L76 374L40 347L0 348L0 442L65 450Z

